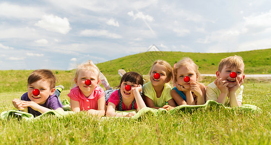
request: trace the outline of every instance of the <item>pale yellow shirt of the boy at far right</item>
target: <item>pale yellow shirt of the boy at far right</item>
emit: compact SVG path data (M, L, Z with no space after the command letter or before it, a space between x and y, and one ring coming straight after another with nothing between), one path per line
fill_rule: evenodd
M236 98L237 98L237 101L239 102L242 102L243 100L243 96L242 96L243 89L244 89L244 86L241 85L236 91ZM220 93L221 93L220 89L215 85L214 82L212 82L206 88L206 100L217 101ZM229 104L230 104L230 100L227 97L224 105L229 105Z

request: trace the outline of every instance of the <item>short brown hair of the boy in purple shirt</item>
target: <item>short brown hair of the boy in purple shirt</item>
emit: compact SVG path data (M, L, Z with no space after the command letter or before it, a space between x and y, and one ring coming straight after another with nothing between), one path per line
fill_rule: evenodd
M44 80L49 83L50 89L55 87L56 77L53 72L46 69L35 70L28 76L27 85L31 85L32 83Z

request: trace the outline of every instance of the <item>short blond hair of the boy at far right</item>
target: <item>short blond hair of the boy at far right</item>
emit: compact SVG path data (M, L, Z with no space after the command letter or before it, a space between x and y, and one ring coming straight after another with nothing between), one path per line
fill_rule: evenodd
M229 66L231 68L242 68L243 71L245 69L243 58L237 55L221 59L218 66L218 72L221 72L224 66Z

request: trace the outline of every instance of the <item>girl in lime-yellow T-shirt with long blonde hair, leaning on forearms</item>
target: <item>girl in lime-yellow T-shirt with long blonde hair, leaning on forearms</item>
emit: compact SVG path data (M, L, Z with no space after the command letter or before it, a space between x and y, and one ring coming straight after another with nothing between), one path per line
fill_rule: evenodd
M156 60L149 72L150 81L143 86L143 94L147 107L169 110L168 105L175 107L171 97L171 86L168 84L173 77L171 65L164 60ZM159 77L158 77L159 76ZM166 102L168 105L166 105Z

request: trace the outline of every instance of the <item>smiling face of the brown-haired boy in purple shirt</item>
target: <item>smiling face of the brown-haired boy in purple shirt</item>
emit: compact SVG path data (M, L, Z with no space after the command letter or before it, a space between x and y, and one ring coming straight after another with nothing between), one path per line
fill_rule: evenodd
M34 96L32 93L33 89L35 88L40 90L40 94L38 96ZM44 104L48 97L53 95L54 92L55 88L50 89L50 84L45 80L38 80L32 84L29 84L27 87L28 98L39 105Z

